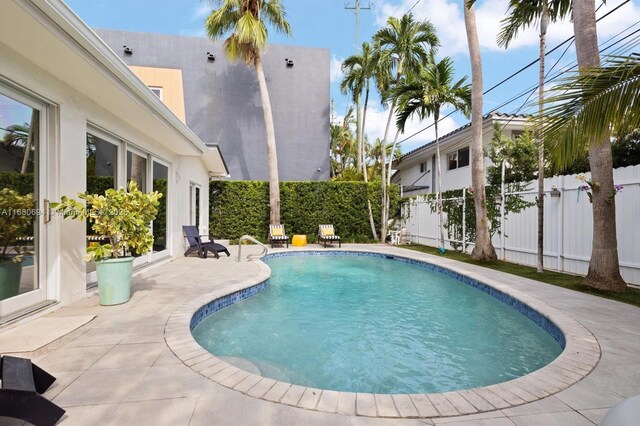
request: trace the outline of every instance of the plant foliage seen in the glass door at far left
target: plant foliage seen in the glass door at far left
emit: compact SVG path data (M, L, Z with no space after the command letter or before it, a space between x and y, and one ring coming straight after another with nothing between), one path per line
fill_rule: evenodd
M18 245L13 247L17 255L7 252L18 237L29 233L34 215L33 194L20 195L9 188L0 190L0 261L22 262L27 252Z

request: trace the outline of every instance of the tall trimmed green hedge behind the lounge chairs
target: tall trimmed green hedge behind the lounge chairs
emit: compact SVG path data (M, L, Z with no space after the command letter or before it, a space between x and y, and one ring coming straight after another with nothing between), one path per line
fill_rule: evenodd
M266 241L269 234L269 184L214 181L209 185L210 230L216 238L237 240L249 234ZM342 241L372 240L367 198L380 229L380 184L364 182L281 182L282 223L287 235L305 234L315 241L319 224L333 224ZM390 189L391 216L399 193Z

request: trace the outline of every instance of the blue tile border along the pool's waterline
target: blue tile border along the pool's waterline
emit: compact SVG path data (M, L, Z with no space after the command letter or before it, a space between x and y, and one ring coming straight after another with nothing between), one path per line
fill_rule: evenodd
M389 255L383 253L372 253L372 252L362 252L362 251L349 251L349 250L339 250L339 251L296 251L296 252L281 252L281 253L271 253L262 258L262 260L273 259L278 257L290 257L290 256L369 256L369 257L379 257L386 258L391 260L397 260L399 262L408 263L411 265L415 265L421 268L425 268L431 271L439 272L441 274L447 275L457 281L460 281L464 284L470 285L484 293L498 299L502 303L510 306L511 308L518 311L520 314L526 316L530 320L532 320L535 324L537 324L540 328L549 333L560 346L564 349L566 347L566 338L560 327L558 327L553 321L551 321L548 317L541 314L540 312L533 309L531 306L527 305L524 302L510 296L496 288L483 283L482 281L478 281L475 278L471 278L467 275L460 274L458 272L452 271L445 267L434 265L432 263L428 263L422 260L410 259L407 257L397 256L397 255ZM240 290L226 296L215 299L202 307L200 307L193 317L191 318L190 329L193 329L206 317L209 315L219 311L222 308L225 308L229 305L232 305L236 302L248 299L251 296L254 296L264 290L268 285L268 280L263 281L254 286L248 287L244 290Z

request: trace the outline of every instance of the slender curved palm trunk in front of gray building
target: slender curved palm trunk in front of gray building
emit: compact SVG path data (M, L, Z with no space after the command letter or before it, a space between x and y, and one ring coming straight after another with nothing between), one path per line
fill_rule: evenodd
M267 132L267 164L269 166L269 223L280 224L280 180L278 179L278 155L276 153L276 132L273 126L273 113L271 101L267 89L267 79L262 68L260 54L255 59L256 75L260 87L260 100L262 101L262 115L264 127Z

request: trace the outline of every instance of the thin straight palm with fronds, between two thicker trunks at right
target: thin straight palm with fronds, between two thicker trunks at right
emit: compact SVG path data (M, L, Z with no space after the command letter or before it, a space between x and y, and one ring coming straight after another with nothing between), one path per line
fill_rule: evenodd
M498 44L505 48L516 38L521 29L540 22L540 68L538 75L538 112L544 109L544 74L546 39L549 22L567 16L571 10L570 0L511 0L511 13L502 20ZM542 124L542 123L541 123ZM538 132L538 264L537 271L544 272L544 139Z

